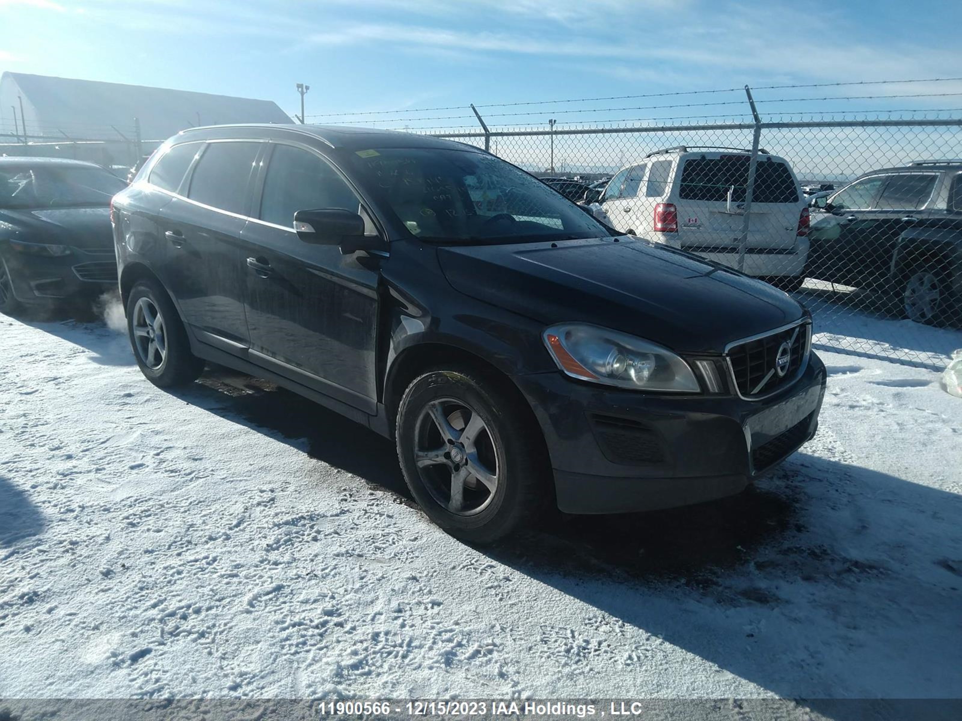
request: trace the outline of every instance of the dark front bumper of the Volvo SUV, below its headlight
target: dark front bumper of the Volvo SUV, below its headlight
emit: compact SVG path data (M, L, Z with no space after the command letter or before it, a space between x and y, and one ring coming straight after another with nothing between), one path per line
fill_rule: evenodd
M667 509L738 493L815 435L825 389L810 354L794 385L762 401L666 396L516 376L541 424L558 508Z

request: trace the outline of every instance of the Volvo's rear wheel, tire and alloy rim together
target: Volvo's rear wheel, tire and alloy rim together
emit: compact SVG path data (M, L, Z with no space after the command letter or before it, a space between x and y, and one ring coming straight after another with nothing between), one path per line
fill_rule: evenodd
M144 279L131 289L127 335L140 372L154 385L187 385L204 370L204 360L190 353L180 314L157 281Z

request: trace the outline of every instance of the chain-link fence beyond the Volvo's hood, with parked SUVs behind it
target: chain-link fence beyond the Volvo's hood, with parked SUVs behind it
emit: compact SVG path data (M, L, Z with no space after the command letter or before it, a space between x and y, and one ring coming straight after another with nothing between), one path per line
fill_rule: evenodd
M412 132L489 149L631 232L763 278L813 344L945 367L962 348L962 119Z

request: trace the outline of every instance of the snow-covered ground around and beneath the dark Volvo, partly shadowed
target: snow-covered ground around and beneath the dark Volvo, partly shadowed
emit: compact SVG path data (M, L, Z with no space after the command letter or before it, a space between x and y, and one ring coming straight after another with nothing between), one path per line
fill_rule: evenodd
M359 426L0 316L0 697L962 696L962 401L822 356L746 494L474 549Z

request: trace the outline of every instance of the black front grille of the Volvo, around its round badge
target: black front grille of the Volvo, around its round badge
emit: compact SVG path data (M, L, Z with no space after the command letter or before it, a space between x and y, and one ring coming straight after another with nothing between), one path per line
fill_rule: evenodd
M811 326L801 323L768 336L747 340L731 346L725 354L731 369L732 379L738 386L743 398L764 398L797 380L808 358ZM785 372L778 373L776 361L782 348L789 348L788 365Z

